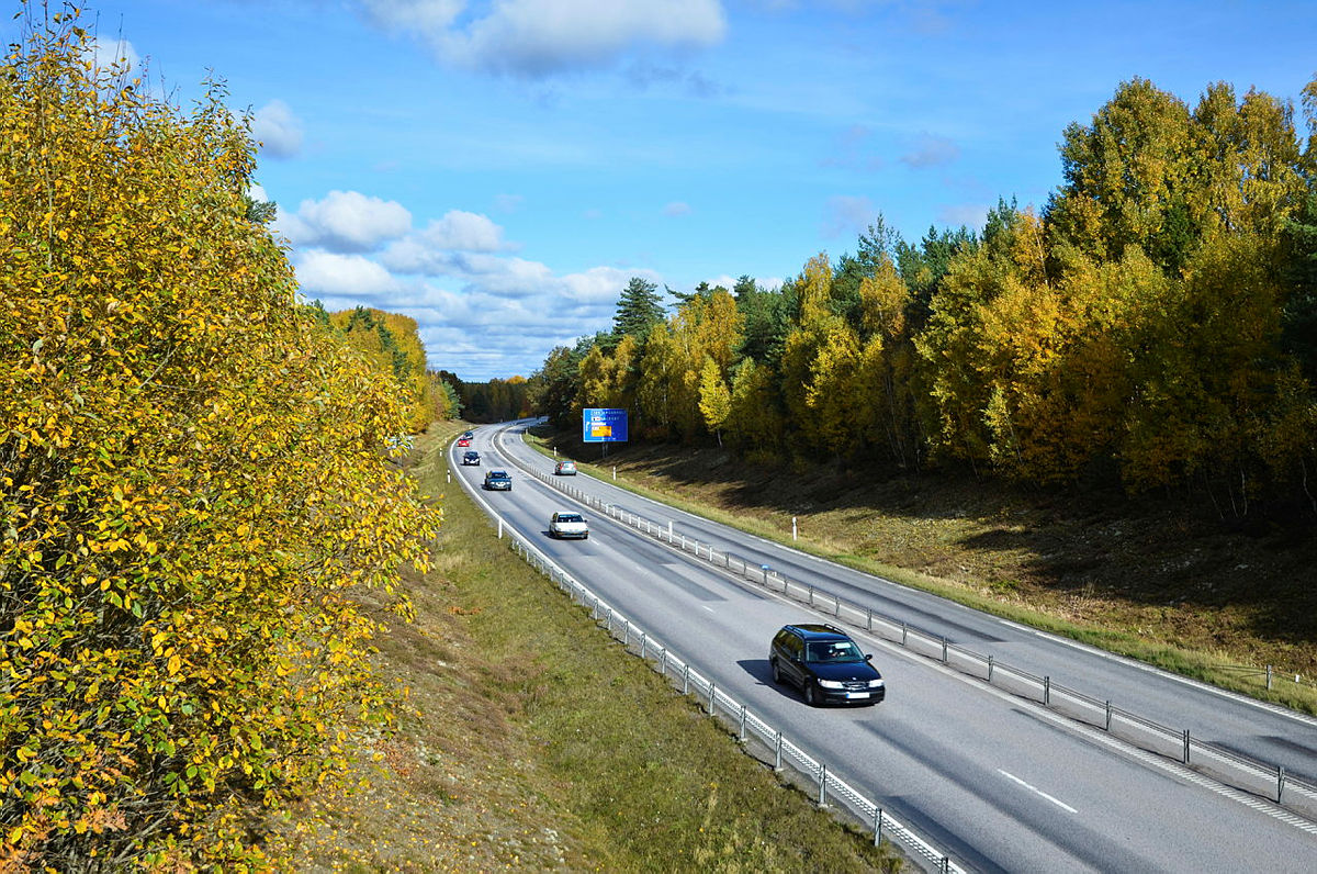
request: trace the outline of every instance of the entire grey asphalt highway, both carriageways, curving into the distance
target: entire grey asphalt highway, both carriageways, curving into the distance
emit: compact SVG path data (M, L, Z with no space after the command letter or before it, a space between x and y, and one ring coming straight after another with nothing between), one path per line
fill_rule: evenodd
M624 610L720 689L782 729L830 770L973 871L1309 871L1317 825L1264 798L1202 778L935 659L848 627L888 682L868 708L809 708L772 683L766 650L805 606L738 580L607 515L590 539L548 537L554 510L581 510L523 469L552 471L518 431L478 430L481 467L454 475L564 569ZM511 492L481 492L491 467ZM1052 638L636 497L586 476L572 485L719 550L818 580L1002 662L1195 737L1317 776L1317 720ZM789 568L789 571L788 571ZM643 718L643 714L637 714Z

